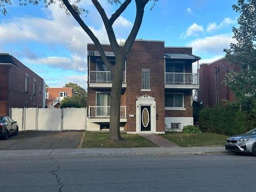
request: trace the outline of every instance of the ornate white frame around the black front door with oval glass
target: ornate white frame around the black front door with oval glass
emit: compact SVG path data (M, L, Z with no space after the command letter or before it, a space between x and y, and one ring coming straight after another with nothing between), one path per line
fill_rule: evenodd
M141 132L141 112L140 108L143 105L151 106L151 131ZM136 133L156 133L156 101L154 97L143 95L137 98L136 101Z

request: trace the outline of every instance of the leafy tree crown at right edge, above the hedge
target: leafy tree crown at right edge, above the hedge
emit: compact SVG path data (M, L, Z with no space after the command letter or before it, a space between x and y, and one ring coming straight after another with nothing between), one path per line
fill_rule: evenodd
M256 0L238 0L238 4L232 7L241 13L239 27L232 30L237 43L231 43L230 49L224 51L227 60L240 70L230 71L224 82L243 102L248 96L256 99Z

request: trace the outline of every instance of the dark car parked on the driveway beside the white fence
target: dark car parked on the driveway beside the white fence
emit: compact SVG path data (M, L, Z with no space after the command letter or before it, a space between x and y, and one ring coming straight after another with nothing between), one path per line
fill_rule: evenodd
M10 117L0 117L0 137L8 139L9 135L18 135L17 121L12 120Z

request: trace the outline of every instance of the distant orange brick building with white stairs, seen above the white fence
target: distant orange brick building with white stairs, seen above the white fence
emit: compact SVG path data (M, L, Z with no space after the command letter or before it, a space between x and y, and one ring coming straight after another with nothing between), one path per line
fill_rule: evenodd
M60 102L65 97L73 97L73 88L46 88L46 108L59 108Z

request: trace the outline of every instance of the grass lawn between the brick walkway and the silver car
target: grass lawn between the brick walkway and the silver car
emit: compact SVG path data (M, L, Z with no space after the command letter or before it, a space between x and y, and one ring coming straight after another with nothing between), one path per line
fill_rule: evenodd
M226 138L228 137L215 133L166 133L161 136L183 147L224 146Z

